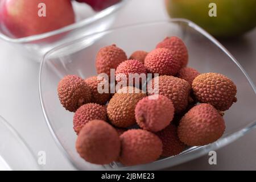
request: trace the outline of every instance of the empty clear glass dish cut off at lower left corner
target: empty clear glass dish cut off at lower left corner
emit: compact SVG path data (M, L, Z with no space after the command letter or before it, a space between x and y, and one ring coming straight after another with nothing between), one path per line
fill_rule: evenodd
M40 169L26 142L0 116L0 171Z

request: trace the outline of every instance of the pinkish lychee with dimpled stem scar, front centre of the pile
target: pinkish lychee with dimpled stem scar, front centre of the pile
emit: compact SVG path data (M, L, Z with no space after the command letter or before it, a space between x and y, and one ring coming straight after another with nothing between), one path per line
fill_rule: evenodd
M144 97L135 107L135 118L142 129L157 132L168 126L174 118L174 105L166 96Z

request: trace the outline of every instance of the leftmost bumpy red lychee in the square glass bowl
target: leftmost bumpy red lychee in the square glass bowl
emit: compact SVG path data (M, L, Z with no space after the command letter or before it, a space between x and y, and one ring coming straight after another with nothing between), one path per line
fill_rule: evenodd
M81 105L90 102L91 93L89 86L82 78L67 75L62 78L57 88L60 103L66 110L75 112Z

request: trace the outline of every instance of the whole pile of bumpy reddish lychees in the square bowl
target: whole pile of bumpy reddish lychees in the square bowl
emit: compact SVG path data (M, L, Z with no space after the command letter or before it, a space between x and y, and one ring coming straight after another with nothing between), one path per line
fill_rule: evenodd
M110 69L115 75L158 73L147 80L158 92L126 85L113 94L99 93L97 76L65 76L57 91L63 107L75 112L80 156L94 164L132 166L218 140L225 131L224 111L237 101L236 85L220 73L199 73L187 63L187 47L172 36L129 59L115 45L101 48L96 56L98 74L110 76Z

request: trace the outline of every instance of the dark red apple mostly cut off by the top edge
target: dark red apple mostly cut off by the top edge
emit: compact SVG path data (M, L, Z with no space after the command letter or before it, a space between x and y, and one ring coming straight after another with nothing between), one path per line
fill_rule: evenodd
M101 11L121 0L76 0L88 4L94 11Z

